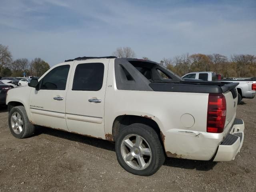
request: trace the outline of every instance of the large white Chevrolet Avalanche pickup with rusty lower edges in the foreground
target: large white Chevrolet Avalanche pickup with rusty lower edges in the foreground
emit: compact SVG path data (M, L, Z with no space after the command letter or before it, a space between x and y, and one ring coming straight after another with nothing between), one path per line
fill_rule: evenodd
M120 165L149 176L166 156L235 158L244 140L237 85L184 81L148 60L80 57L9 90L9 127L16 138L40 125L114 141Z

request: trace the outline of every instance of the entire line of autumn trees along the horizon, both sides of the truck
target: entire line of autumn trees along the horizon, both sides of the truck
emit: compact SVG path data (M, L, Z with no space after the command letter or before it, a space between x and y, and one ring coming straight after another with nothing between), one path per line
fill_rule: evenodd
M120 47L112 53L118 58L135 58L136 54L130 47ZM143 57L150 60L148 57ZM189 72L213 71L223 77L256 76L256 56L250 54L233 54L228 58L222 54L182 54L173 58L163 58L160 64L179 76ZM41 58L29 61L26 58L12 60L8 46L0 44L0 76L21 77L42 76L50 68Z

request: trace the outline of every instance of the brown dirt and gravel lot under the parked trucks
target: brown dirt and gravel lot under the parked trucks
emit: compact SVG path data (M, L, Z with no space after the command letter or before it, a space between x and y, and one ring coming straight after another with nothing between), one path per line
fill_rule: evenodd
M16 139L0 110L0 192L6 191L256 191L256 99L243 99L237 117L245 140L231 162L168 158L150 177L132 175L114 144L50 128Z

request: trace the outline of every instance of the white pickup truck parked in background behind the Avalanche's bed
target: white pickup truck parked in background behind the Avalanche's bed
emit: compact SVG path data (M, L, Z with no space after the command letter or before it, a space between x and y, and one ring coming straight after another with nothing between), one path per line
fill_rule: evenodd
M238 92L238 104L240 104L242 98L254 98L256 94L256 80L217 80L216 73L214 72L190 72L182 76L184 79L196 79L204 81L223 81L223 82L237 82L239 83L237 88Z

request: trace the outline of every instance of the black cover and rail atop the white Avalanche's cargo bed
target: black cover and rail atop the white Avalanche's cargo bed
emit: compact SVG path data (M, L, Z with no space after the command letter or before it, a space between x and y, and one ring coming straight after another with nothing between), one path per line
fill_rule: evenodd
M224 93L234 89L239 83L214 81L154 81L149 86L154 91L189 93Z

